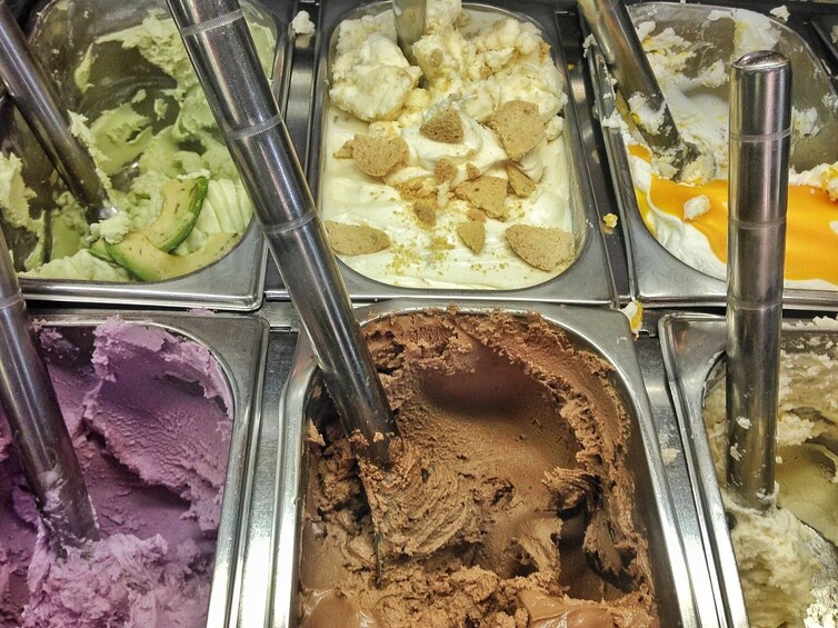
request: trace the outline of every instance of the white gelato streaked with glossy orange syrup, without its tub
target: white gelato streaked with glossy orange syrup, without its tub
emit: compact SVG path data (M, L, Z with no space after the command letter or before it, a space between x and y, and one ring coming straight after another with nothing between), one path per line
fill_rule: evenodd
M734 54L697 68L696 56L707 54L709 43L685 40L671 27L654 21L638 26L644 49L655 71L676 126L685 140L715 161L705 180L676 183L656 165L632 128L636 111L612 117L606 126L619 126L629 150L635 191L642 218L655 238L688 266L724 280L727 272L728 222L728 104L714 94L727 82L730 62L742 53L772 49L779 24L752 11L719 9L710 21L732 21ZM706 57L705 59L709 59ZM689 69L688 69L689 68ZM718 93L718 90L716 90ZM792 141L819 132L815 110L792 109ZM786 287L838 289L838 163L789 173L786 233ZM831 256L831 257L830 257Z

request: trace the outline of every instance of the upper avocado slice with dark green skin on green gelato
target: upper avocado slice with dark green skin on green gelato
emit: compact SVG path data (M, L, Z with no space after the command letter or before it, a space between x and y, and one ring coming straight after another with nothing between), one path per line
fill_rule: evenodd
M173 250L192 231L208 189L207 177L168 181L160 188L163 195L160 215L157 220L138 232L146 236L161 251Z

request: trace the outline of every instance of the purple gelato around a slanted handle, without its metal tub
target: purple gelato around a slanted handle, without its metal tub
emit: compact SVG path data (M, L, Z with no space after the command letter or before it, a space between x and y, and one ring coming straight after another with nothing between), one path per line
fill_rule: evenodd
M159 328L63 329L39 336L101 540L56 558L0 417L0 625L202 626L232 428L225 376Z

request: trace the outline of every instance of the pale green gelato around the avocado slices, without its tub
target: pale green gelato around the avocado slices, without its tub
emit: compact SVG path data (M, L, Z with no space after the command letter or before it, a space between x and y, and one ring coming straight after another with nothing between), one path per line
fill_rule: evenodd
M249 27L263 69L270 74L275 36L269 28L253 21ZM26 261L22 273L26 277L89 281L136 279L116 261L91 255L93 249L88 247L99 239L108 245L119 243L127 235L154 222L163 202L161 188L172 179L204 177L209 182L194 227L166 255L187 256L201 251L212 233L240 237L250 222L250 201L172 20L162 14L149 14L136 27L99 37L74 72L83 94L102 89L97 84L100 79L96 79L96 72L101 72L97 64L113 56L137 59L160 72L159 88L147 89L140 78L137 83L140 87L129 98L97 113L94 119L71 114L72 131L90 148L118 210L116 216L88 225L76 200L63 189L56 188L53 206L48 208L51 227L48 250L52 255L51 259L43 260L43 225L32 219L24 223L19 220L28 216L28 209L21 213L22 200L34 193L22 188L17 157L0 159L0 179L6 177L7 187L11 186L6 193L0 189L3 219L41 239ZM121 71L123 82L132 80L130 70ZM12 172L18 172L17 178Z

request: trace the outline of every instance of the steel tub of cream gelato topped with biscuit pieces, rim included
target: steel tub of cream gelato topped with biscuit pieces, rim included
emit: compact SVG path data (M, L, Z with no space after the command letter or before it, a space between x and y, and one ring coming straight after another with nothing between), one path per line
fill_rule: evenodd
M301 56L307 176L350 296L616 302L577 114L581 59L565 58L580 49L555 10L440 4L416 44L421 69L402 57L387 70L401 57L382 43L389 7L321 4ZM457 61L435 70L446 47ZM390 93L363 83L377 72ZM380 100L369 110L367 93ZM287 298L272 279L268 298Z

